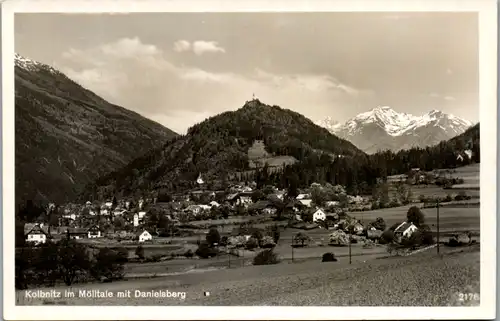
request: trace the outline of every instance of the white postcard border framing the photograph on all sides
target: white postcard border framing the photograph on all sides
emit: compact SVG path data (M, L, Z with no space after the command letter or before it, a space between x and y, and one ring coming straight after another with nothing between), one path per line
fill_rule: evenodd
M481 123L480 307L15 306L14 13L474 11L479 13ZM2 3L3 286L6 319L491 319L496 312L497 6L494 0L8 0ZM47 43L50 45L50 43ZM431 295L431 294L430 294Z

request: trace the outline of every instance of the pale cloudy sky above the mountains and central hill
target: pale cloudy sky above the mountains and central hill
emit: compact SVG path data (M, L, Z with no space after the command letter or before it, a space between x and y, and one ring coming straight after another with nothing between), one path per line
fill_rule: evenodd
M15 50L178 133L253 94L313 121L479 121L476 13L18 13Z

